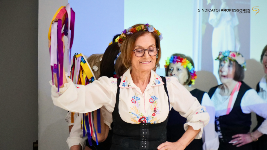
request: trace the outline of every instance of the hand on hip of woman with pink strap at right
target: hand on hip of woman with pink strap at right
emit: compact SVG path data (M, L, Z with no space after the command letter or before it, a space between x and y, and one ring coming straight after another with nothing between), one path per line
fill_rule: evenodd
M237 145L236 147L240 147L242 145L253 142L249 133L248 134L236 134L232 136L232 138L235 138L235 139L231 140L229 143L233 143L233 145Z

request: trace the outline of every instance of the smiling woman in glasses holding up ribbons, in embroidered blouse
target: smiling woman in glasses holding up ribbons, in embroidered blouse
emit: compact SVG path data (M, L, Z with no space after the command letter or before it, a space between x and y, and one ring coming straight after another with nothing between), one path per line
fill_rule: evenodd
M118 38L120 57L128 68L123 76L103 76L79 88L64 76L59 92L51 81L54 104L79 113L105 106L114 125L111 150L185 149L194 138L201 138L209 114L177 78L160 77L152 70L161 57L160 40L162 34L149 24L125 29ZM187 118L186 132L173 143L166 142L171 107Z

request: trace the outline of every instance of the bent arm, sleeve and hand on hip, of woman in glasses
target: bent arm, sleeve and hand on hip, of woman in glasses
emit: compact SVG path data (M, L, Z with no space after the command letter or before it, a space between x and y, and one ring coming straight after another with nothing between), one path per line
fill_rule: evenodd
M203 128L209 123L209 114L204 106L201 106L195 97L185 89L175 77L167 77L167 89L169 100L174 110L178 111L182 117L187 119L184 124L184 135L174 143L162 143L158 149L177 149L182 150L191 141L202 137Z

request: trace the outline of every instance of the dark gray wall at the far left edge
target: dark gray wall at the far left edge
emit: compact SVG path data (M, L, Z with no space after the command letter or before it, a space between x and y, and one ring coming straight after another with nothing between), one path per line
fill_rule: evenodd
M38 140L38 1L0 1L0 149Z

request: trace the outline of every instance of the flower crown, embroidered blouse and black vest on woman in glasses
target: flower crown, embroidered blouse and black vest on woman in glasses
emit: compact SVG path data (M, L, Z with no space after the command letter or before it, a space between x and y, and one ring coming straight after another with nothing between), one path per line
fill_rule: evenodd
M118 43L144 30L155 32L162 39L161 33L147 24L124 30ZM151 70L150 81L142 93L133 83L130 71L131 67L121 78L100 77L88 85L74 85L67 78L59 91L50 81L52 100L56 106L74 113L92 112L105 106L112 112L114 124L111 150L157 149L166 141L171 107L187 118L185 130L189 125L194 130L200 129L196 138L201 138L209 114L177 78L160 77Z

